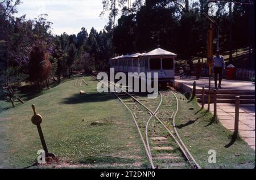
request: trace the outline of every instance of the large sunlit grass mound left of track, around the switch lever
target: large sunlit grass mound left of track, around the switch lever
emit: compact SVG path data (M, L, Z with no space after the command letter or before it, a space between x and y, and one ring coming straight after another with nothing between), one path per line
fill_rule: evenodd
M143 156L129 112L112 93L98 93L95 80L84 79L88 86L75 87L73 79L0 114L9 118L3 121L5 167L29 166L42 149L36 126L31 123L31 104L43 116L42 130L49 152L61 160L82 163L90 155ZM80 95L80 90L86 95Z

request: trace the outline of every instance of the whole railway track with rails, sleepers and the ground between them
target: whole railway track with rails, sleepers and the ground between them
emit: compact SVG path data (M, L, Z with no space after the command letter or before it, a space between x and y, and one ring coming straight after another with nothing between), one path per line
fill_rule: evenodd
M96 79L95 76L92 75L92 77ZM103 83L107 87L109 83L112 84L111 82ZM116 89L119 91L114 92L114 95L130 111L152 169L201 168L176 130L175 117L179 110L179 101L174 92L171 91L171 95L175 97L176 109L172 112L172 121L170 121L170 119L159 118L162 116L159 111L163 105L162 92L159 92L159 100L148 99L141 94L128 93L122 87L116 87Z

